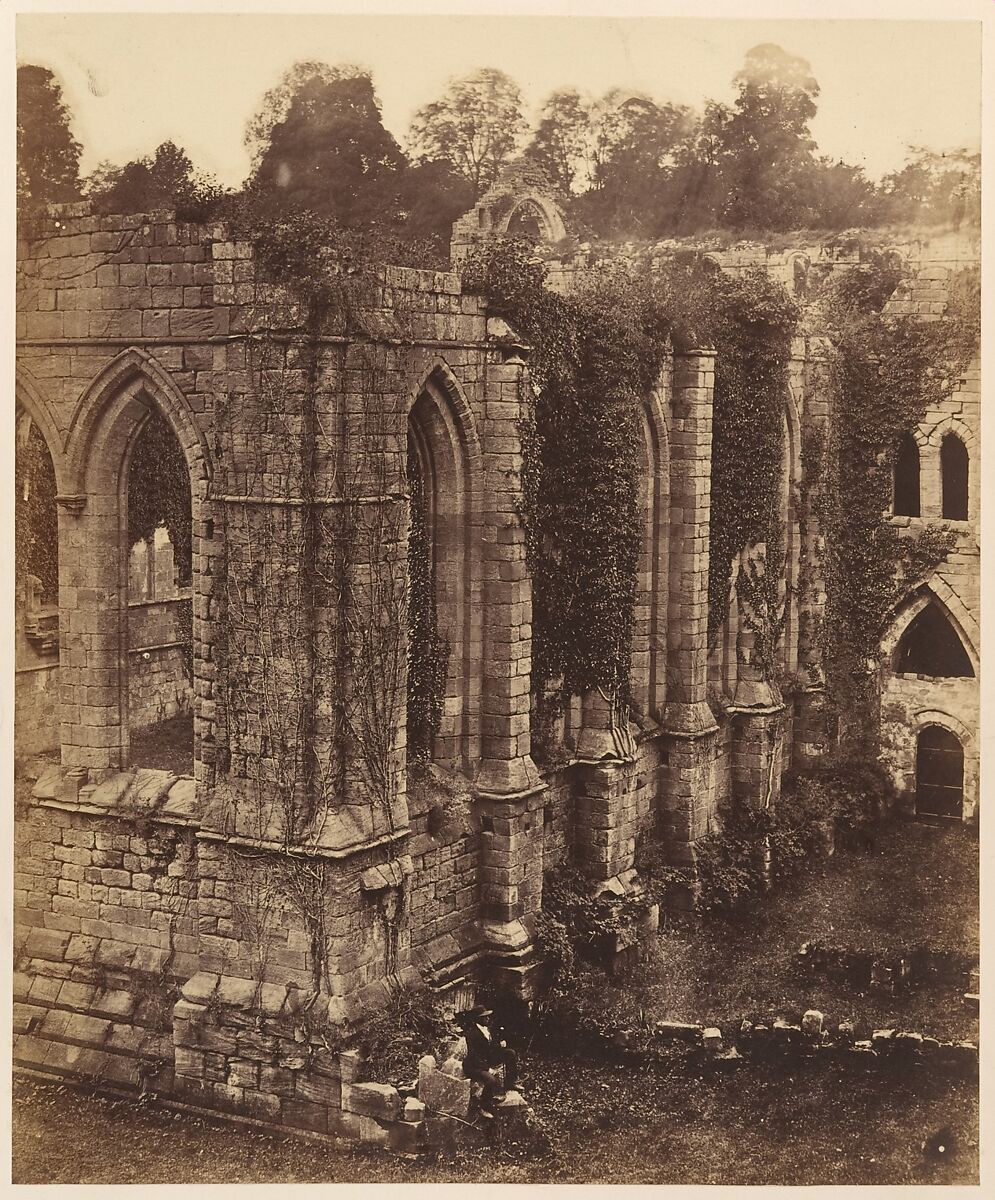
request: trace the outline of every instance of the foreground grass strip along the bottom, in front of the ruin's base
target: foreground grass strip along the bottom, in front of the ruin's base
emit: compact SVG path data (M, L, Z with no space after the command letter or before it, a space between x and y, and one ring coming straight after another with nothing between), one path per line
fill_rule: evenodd
M532 1058L552 1153L403 1160L18 1080L14 1183L960 1183L977 1182L977 1092L929 1074L660 1076ZM923 1139L952 1124L940 1164Z

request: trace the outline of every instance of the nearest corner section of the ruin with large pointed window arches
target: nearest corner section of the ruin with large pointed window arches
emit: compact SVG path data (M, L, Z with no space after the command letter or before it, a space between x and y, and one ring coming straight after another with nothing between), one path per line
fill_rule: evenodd
M109 1019L101 1015L108 1004L122 1014L139 1004L148 986L144 967L134 967L139 950L164 950L170 988L212 973L221 1007L241 980L242 991L289 983L325 1002L348 1000L354 1012L383 1002L382 983L409 980L412 961L430 976L458 974L496 942L515 962L528 948L521 918L541 893L529 587L515 508L527 368L488 342L482 302L463 296L452 275L385 269L354 298L372 340L353 340L331 318L317 332L281 338L302 319L296 300L222 229L70 210L20 250L18 402L47 438L60 494L62 763L38 784L22 822L37 853L20 856L17 924L30 976L78 977L96 992L67 991L58 1018L22 1012L18 1061L44 1067L50 1057L54 1069L72 1072L84 1055L80 1070L139 1084L124 1060L107 1058L128 1052L118 1033L112 1046L109 1026L92 1024ZM192 598L130 605L120 485L152 407L191 469ZM412 421L438 472L433 532L450 662L432 756L462 780L466 812L455 826L431 808L409 811L406 799ZM346 509L359 512L352 524L338 518ZM382 512L390 518L378 526ZM400 665L395 691L373 713L362 707L370 686L355 647L383 617L378 594L401 606L391 614ZM184 606L192 608L192 696L180 670ZM317 655L301 644L310 630L322 643ZM162 708L152 714L150 676L163 672L160 682L174 688L156 689ZM128 724L187 701L194 779L136 773ZM355 706L346 730L335 716L343 703ZM289 787L278 738L287 725L268 725L268 707L306 730L294 744L306 772ZM361 745L371 715L401 730L379 761L383 792ZM305 820L295 824L290 810L300 816L301 802ZM176 821L182 877L169 864L161 886L158 852L146 862L139 842ZM43 869L42 846L56 850ZM173 911L180 888L182 912ZM168 929L164 914L175 918ZM104 1000L104 977L92 972L108 962L116 974ZM90 1021L85 1037L66 1033L73 1007ZM220 1084L223 1108L246 1111L239 1088L266 1092L264 1058L272 1070L290 1069L240 1046L220 1066L205 1056L221 1051L192 1043L182 1032L190 1014L180 1015L176 1079ZM170 1020L155 1048L163 1091L173 1087ZM134 1055L151 1062L151 1051ZM316 1103L306 1093L320 1091L319 1076L316 1068L302 1091L281 1096L281 1120L318 1127L301 1105ZM178 1093L187 1086L202 1084ZM257 1115L266 1104L257 1103ZM328 1117L319 1123L325 1130Z

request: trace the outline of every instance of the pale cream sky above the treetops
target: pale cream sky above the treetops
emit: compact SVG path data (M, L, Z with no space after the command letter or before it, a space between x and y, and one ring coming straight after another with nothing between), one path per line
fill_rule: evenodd
M172 139L238 185L245 122L300 59L371 68L384 124L403 145L412 113L476 67L516 79L529 115L564 85L700 108L732 101L732 77L760 42L808 59L821 86L820 151L874 179L900 167L909 144L981 143L981 26L965 20L77 12L20 13L16 36L19 62L59 77L84 173Z

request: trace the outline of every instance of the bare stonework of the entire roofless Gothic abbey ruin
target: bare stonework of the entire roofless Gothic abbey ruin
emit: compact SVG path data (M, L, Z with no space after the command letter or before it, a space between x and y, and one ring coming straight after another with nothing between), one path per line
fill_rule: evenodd
M451 271L378 269L344 331L305 322L220 226L73 205L22 246L18 438L50 455L58 592L18 580L16 752L60 762L18 812L16 1064L408 1148L438 1081L426 1070L414 1099L364 1082L329 1030L408 984L528 997L544 874L570 862L592 890L639 893L645 838L691 864L723 805L775 805L786 772L832 750L825 538L802 486L832 350L809 319L778 481L774 676L796 686L765 666L745 589L709 644L715 352L675 340L641 408L629 703L567 697L534 752L529 347L458 268L509 227L547 244L561 292L600 268L557 257L549 197L499 192L455 226ZM977 262L954 235L894 253L888 311L909 320L939 319ZM859 265L840 245L711 257L799 299ZM168 542L137 554L127 536L152 420L188 470L188 581ZM952 544L868 665L900 803L963 820L978 805L978 422L973 362L899 449L889 520ZM442 647L427 734L408 695L415 523ZM762 546L735 565L763 571ZM144 764L142 731L186 714L190 769Z

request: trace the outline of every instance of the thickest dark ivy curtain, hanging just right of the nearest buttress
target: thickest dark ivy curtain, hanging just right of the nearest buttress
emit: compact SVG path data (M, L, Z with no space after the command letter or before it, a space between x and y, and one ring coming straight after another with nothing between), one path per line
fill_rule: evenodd
M513 240L481 250L464 286L531 347L522 515L533 577L533 688L628 697L639 554L639 406L659 379L666 326L624 270L569 296Z

